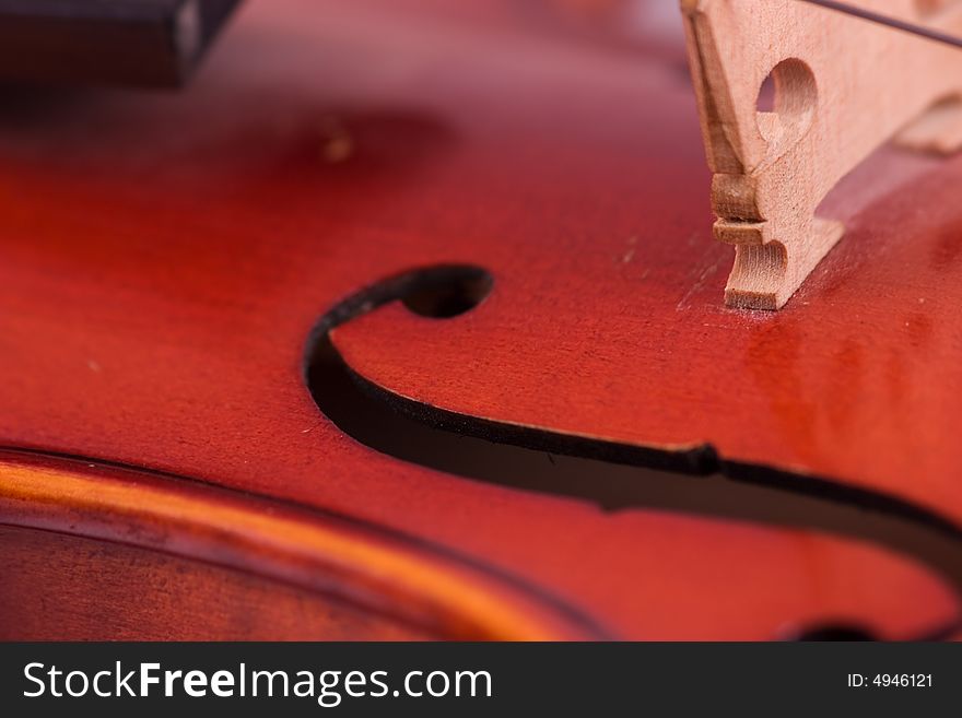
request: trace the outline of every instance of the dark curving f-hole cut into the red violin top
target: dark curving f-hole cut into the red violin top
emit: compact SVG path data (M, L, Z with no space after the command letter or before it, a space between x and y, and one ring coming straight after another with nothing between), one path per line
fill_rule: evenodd
M606 511L661 509L846 535L915 557L962 595L962 531L926 508L829 479L729 461L711 445L669 451L457 414L368 381L331 341L337 327L391 302L438 320L458 317L483 302L493 284L482 268L445 264L396 274L338 303L307 341L305 380L317 407L355 440L402 461L587 501ZM834 625L831 616L825 625ZM957 619L907 638L939 639L960 626ZM805 626L786 635L852 637Z

